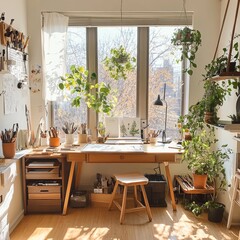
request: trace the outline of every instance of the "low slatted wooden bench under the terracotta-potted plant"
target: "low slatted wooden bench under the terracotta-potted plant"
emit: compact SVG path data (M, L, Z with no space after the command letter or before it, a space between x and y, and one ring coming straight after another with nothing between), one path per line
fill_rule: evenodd
M196 189L193 187L192 182L187 181L184 182L181 176L175 176L178 184L180 185L182 191L185 194L213 194L214 188L212 186L207 185L205 189Z

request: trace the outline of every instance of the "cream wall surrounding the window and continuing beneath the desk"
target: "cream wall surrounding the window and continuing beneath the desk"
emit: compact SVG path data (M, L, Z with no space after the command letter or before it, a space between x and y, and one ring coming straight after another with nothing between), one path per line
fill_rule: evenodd
M137 11L137 12L161 12L170 11L177 12L183 11L182 0L131 0L123 1L124 11ZM42 11L59 11L59 12L120 12L120 0L27 0L28 7L28 31L31 36L29 45L30 52L30 68L32 65L41 65L41 43L40 43L40 28L41 28L41 12ZM202 96L202 73L205 64L209 63L213 58L217 36L219 32L219 19L220 19L220 2L219 0L188 0L186 1L187 11L194 12L194 27L202 33L202 47L199 49L197 56L198 68L195 70L194 75L190 81L190 104L196 103ZM32 116L36 128L41 116L44 115L43 101L41 93L32 94ZM138 170L140 172L153 172L156 164L85 164L82 171L81 184L91 184L97 172L112 174L113 172ZM181 174L186 171L186 166L182 164L170 166L172 175ZM164 171L163 171L164 172Z

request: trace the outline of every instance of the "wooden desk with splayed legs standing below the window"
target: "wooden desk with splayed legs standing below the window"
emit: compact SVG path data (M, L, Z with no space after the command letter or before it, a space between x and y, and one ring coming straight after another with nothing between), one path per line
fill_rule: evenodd
M169 163L179 162L181 159L181 151L178 149L169 148L168 145L143 145L143 151L116 151L116 152L103 152L103 151L84 151L78 150L76 152L67 152L67 161L71 162L71 168L68 178L67 190L63 206L63 215L67 213L68 201L72 186L73 174L75 165L77 163L77 176L79 180L81 174L82 163L164 163L166 177L168 181L170 197L172 201L172 208L176 211L176 202L173 193L172 179L169 170ZM77 185L77 184L76 184Z

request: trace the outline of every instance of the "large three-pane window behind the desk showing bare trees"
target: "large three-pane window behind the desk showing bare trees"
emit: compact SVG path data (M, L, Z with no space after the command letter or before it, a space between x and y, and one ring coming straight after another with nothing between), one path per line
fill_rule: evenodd
M182 106L182 84L181 84L181 63L176 63L171 54L170 37L176 27L69 27L67 47L67 69L73 64L93 69L98 74L98 81L104 81L111 85L112 94L116 97L116 107L112 116L119 117L140 117L147 119L150 128L163 129L165 108L154 106L158 94L163 94L164 83L167 84L166 101L168 103L167 136L177 136L176 123L181 114ZM94 34L89 36L89 31ZM139 30L145 36L139 39ZM141 37L143 36L141 33ZM95 38L95 39L93 39ZM144 42L145 41L145 42ZM91 43L90 43L91 42ZM95 54L89 49L89 45L95 43ZM141 45L143 44L143 45ZM137 58L137 66L130 73L127 80L113 80L103 66L103 60L110 54L110 49L123 45L128 52ZM143 50L144 47L144 50ZM95 51L95 50L94 50ZM91 53L90 53L91 52ZM147 52L148 54L143 54ZM96 64L97 63L97 64ZM143 64L142 64L143 63ZM148 69L146 76L142 69ZM142 76L145 77L142 77ZM142 82L146 84L143 86ZM138 85L139 84L139 85ZM146 89L145 89L146 88ZM141 95L142 92L146 94ZM69 95L69 98L72 96ZM146 104L146 109L141 111L141 102ZM54 102L53 124L61 129L66 121L73 121L76 124L87 122L94 131L97 120L102 121L103 115L92 117L88 115L86 105L81 104L80 108L73 108L69 101L58 99ZM92 114L92 113L91 113ZM94 120L92 120L94 119ZM96 120L97 119L97 120Z

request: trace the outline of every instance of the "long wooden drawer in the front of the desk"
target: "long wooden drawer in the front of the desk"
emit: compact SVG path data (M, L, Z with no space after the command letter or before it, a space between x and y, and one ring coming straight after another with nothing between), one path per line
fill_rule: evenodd
M153 163L155 155L151 154L114 154L114 153L89 153L89 163Z

